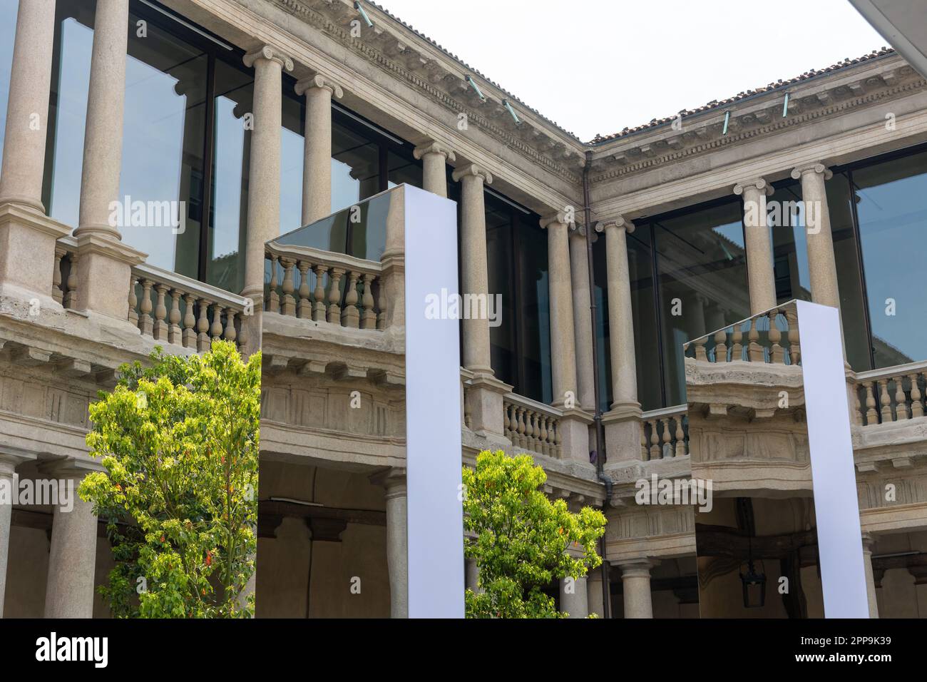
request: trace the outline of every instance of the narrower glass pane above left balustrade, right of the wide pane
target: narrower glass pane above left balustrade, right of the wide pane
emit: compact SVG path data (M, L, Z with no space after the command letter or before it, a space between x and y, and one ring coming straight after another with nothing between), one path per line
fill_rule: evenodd
M212 154L212 211L207 241L206 281L228 291L245 282L245 229L248 225L248 164L252 76L216 61Z

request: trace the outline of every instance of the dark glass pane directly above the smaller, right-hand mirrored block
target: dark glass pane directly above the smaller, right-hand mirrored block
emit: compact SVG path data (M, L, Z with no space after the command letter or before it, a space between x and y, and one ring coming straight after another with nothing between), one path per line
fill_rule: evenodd
M682 344L750 312L740 201L653 222L667 405L685 402Z

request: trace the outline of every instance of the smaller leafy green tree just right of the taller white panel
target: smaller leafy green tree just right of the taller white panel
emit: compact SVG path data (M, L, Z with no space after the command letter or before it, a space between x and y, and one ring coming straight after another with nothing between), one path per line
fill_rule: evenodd
M541 492L546 481L531 457L502 450L481 452L476 470L464 467L464 529L476 534L464 555L476 560L482 589L467 589L467 618L565 617L543 590L602 564L595 543L605 532L603 513L570 512L564 500Z

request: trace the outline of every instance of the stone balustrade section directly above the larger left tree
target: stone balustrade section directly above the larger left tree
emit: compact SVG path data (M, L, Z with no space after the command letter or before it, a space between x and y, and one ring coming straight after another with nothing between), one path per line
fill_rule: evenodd
M132 268L129 287L129 321L143 336L197 353L210 350L212 341L248 343L249 311L242 296L177 275L150 264Z

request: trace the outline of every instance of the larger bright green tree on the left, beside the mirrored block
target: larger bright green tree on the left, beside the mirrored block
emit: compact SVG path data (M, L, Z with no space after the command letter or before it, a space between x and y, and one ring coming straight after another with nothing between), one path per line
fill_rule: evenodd
M229 341L120 368L90 406L81 498L107 521L116 566L99 588L117 617L248 617L258 519L260 353Z

